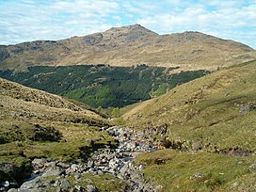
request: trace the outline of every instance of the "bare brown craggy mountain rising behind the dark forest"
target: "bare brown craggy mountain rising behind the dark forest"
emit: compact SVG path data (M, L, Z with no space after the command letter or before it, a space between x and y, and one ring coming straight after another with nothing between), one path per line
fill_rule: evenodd
M255 58L255 51L233 40L200 32L158 35L134 24L67 40L36 40L0 46L0 69L24 71L29 66L109 64L216 70Z

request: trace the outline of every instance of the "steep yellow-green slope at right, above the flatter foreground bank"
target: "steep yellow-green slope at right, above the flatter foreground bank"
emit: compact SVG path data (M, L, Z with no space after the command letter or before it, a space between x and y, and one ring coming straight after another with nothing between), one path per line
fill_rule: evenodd
M123 117L148 131L168 127L166 139L172 146L180 143L179 148L256 152L255 65L252 61L206 75L136 104Z

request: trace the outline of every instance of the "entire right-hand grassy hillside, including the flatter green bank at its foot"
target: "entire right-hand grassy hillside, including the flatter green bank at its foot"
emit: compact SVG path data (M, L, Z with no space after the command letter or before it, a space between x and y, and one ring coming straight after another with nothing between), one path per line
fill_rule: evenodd
M170 149L143 153L161 191L256 190L256 61L232 66L127 106L129 126Z

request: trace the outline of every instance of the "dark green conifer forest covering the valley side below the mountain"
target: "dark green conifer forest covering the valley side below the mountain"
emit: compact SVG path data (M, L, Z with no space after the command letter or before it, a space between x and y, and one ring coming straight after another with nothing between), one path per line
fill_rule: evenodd
M164 94L209 72L173 73L176 68L106 65L36 66L27 72L0 71L0 77L63 95L92 107L121 107Z

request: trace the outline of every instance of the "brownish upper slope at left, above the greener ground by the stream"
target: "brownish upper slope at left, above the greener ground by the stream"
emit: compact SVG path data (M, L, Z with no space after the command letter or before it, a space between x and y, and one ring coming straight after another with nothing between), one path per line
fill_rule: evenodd
M92 124L104 123L103 118L87 109L88 106L79 106L38 89L26 88L0 78L0 90L2 120L80 120Z

